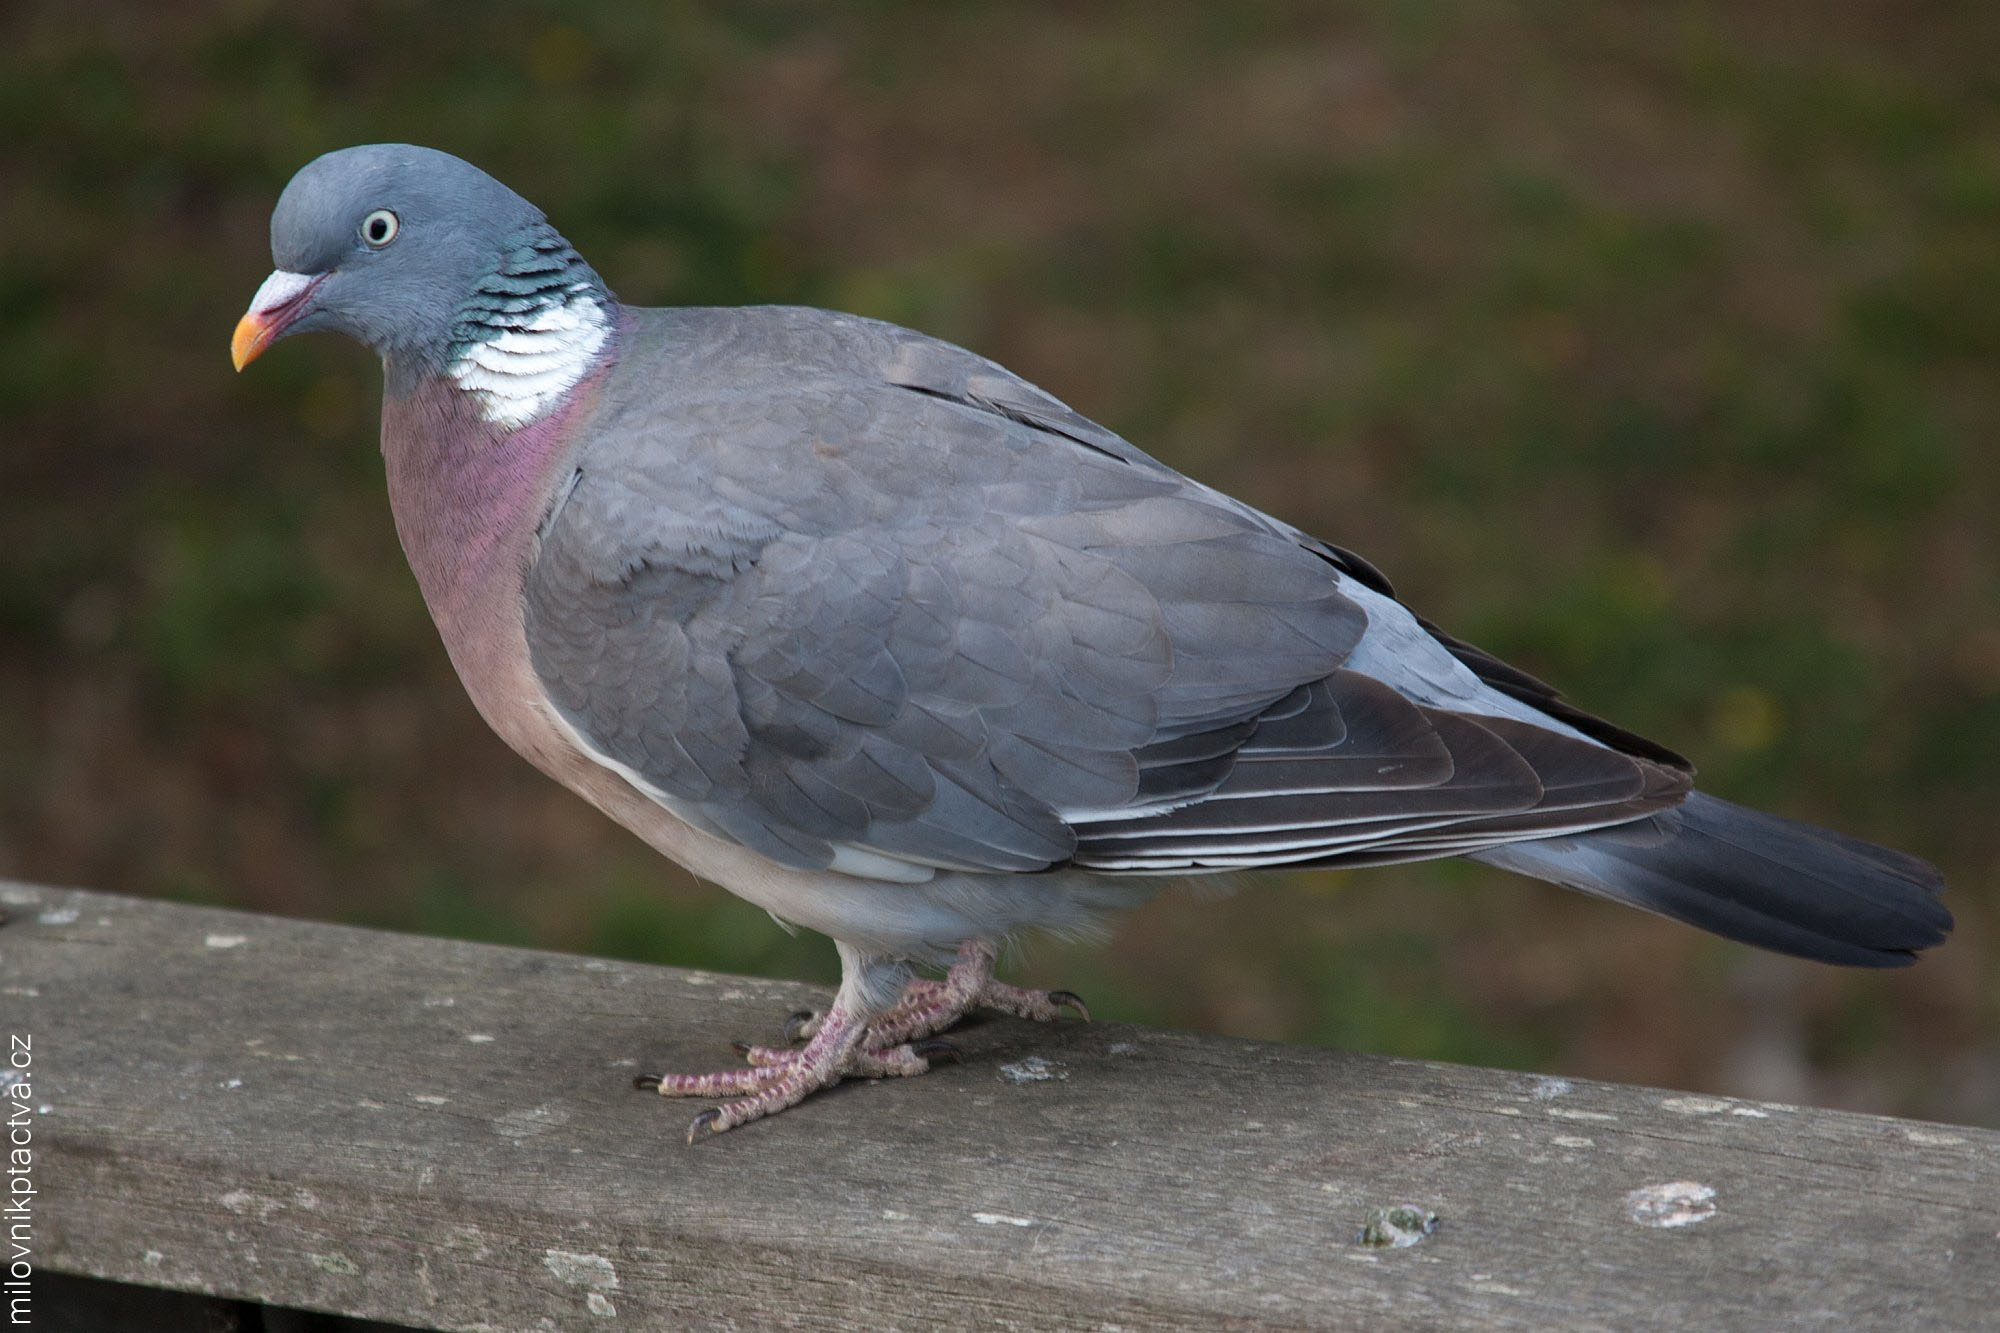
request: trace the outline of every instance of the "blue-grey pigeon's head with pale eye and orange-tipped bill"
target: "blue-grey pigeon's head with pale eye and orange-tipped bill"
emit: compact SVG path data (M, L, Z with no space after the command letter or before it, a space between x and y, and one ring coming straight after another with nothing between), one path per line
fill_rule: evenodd
M286 334L328 328L384 358L438 366L468 300L508 256L548 250L536 236L554 232L534 204L448 152L412 144L328 152L278 196L270 218L278 272L236 324L230 354L242 370Z

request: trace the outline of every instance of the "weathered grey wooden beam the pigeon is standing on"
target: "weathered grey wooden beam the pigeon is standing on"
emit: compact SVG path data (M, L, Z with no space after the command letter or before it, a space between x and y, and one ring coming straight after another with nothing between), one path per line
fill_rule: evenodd
M964 1065L688 1147L698 1107L632 1073L726 1065L816 993L26 885L0 907L64 1273L440 1329L1996 1317L1992 1131L992 1021ZM1388 1205L1436 1231L1358 1243Z

